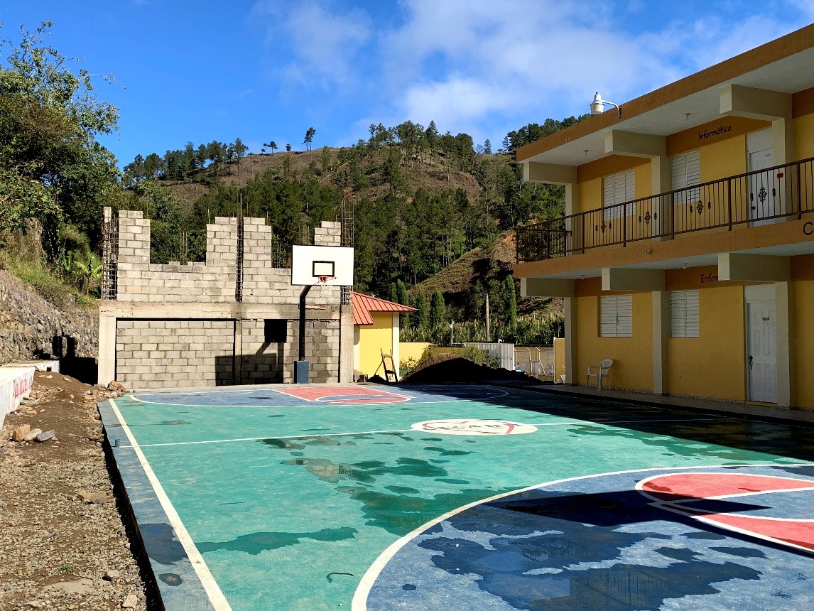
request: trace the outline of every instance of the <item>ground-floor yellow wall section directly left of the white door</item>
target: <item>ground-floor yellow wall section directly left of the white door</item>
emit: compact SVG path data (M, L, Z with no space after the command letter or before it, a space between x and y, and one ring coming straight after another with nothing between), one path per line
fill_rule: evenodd
M698 291L700 337L667 339L667 392L746 399L743 287Z

